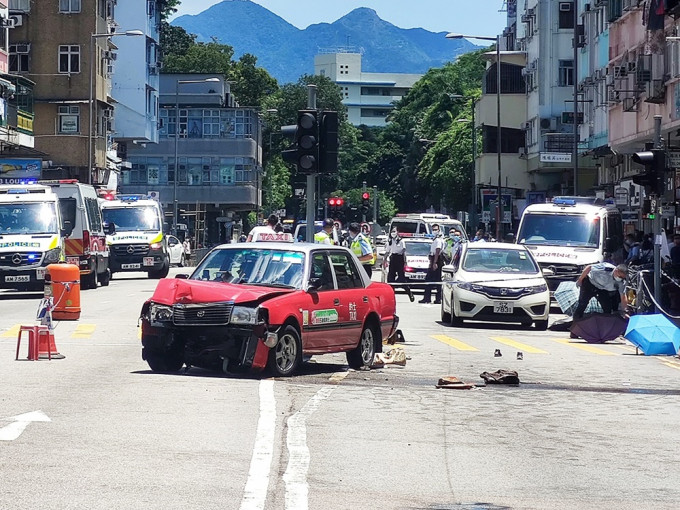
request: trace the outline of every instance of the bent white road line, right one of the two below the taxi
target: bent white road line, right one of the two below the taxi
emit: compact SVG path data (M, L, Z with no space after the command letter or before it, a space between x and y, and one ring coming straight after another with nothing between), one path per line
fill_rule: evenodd
M288 418L288 466L283 474L286 483L286 509L307 510L307 471L309 471L309 448L307 447L307 418L316 411L321 402L326 400L335 388L320 389L305 406Z

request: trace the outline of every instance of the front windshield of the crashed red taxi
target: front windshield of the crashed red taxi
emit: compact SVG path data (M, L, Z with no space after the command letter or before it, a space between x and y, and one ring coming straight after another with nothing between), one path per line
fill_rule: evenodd
M223 248L209 253L190 279L301 289L304 260L304 253L286 249Z

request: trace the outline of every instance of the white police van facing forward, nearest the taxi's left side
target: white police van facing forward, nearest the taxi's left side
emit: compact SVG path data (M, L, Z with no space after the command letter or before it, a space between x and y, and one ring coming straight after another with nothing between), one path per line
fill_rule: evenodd
M170 256L160 204L146 195L121 195L101 201L101 209L114 229L106 236L111 273L146 271L149 278L165 278Z

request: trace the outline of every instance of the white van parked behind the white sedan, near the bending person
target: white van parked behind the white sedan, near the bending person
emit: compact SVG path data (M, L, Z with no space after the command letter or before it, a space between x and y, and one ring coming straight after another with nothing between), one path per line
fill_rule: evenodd
M551 291L623 246L620 211L595 197L555 197L524 209L517 243L531 249Z

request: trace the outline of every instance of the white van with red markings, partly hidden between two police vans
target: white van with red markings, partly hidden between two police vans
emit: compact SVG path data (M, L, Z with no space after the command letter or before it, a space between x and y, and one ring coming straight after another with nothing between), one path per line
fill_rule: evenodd
M59 208L64 221L66 239L64 257L69 264L80 268L80 286L96 289L106 287L111 279L109 248L106 234L112 233L102 221L97 191L90 184L76 179L46 180L59 197Z

